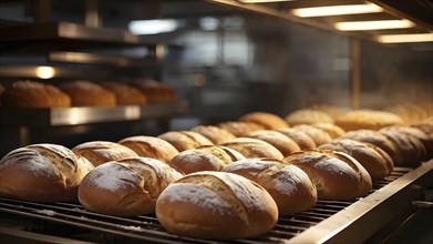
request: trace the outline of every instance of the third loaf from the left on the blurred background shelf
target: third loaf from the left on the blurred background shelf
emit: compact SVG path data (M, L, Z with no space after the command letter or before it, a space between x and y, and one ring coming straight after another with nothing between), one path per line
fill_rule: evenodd
M146 95L134 87L113 81L103 82L101 85L114 93L117 105L144 105L147 103Z

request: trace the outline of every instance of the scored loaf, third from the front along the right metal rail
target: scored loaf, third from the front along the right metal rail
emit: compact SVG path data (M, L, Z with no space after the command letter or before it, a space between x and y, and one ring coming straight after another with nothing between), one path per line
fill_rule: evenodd
M329 150L306 150L283 159L308 174L319 200L351 200L367 195L372 182L365 169L352 156Z

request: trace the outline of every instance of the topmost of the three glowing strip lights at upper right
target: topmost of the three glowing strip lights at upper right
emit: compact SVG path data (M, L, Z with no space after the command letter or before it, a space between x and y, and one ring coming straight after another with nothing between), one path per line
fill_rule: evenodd
M291 10L291 13L297 17L309 18L309 17L359 14L359 13L371 13L371 12L382 12L382 11L383 9L377 4L367 3L367 4L301 8L301 9Z

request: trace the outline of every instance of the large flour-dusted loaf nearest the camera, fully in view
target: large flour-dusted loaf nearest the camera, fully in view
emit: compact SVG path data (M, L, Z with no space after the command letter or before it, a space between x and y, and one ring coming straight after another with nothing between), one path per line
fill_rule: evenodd
M278 220L269 193L257 183L224 172L197 172L172 183L156 202L156 217L168 232L198 238L248 238Z

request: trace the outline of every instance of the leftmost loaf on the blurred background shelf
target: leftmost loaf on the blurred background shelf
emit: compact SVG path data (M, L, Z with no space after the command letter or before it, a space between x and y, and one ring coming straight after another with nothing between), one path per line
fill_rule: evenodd
M20 109L64 108L71 106L71 99L51 84L17 81L6 88L1 104Z

